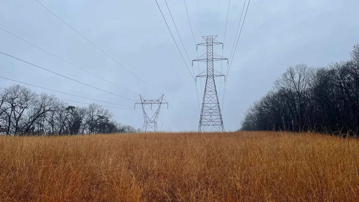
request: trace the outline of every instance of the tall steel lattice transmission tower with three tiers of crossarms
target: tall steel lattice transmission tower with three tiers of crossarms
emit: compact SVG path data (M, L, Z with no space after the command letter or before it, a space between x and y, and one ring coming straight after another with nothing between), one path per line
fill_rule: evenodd
M217 36L203 36L204 41L197 44L197 46L207 46L207 53L193 60L207 62L207 69L196 76L196 79L197 77L206 77L198 132L205 131L210 125L213 125L218 131L224 132L222 114L219 108L216 84L214 82L214 77L223 77L224 75L213 69L213 61L227 60L228 63L228 59L213 53L213 46L222 44L223 48L223 43L216 41L216 37Z

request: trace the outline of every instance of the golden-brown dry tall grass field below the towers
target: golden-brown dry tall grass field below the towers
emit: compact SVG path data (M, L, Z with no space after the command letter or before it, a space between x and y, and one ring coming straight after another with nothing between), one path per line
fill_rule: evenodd
M359 201L359 139L236 132L0 137L0 201Z

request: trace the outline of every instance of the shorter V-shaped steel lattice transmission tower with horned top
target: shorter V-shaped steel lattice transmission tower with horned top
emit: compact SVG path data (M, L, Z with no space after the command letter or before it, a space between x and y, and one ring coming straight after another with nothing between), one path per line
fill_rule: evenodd
M162 104L167 104L167 109L168 109L168 102L163 100L163 96L164 96L164 94L158 100L145 100L140 95L140 101L141 102L136 102L135 103L135 109L136 109L136 104L141 104L142 105L143 118L145 119L145 123L143 124L143 128L142 128L143 133L157 132L157 119L158 119L159 110L161 109L161 105ZM158 105L158 109L154 112L154 114L153 114L153 116L151 118L149 118L149 116L147 115L147 113L145 111L145 109L146 109L145 106L146 105L151 105L151 110L152 110L152 105Z

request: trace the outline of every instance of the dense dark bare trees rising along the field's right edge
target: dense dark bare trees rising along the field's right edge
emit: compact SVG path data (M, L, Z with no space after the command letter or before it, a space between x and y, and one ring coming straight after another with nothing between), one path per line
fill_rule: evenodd
M314 130L356 134L359 127L359 43L350 60L313 68L290 66L246 111L241 130Z

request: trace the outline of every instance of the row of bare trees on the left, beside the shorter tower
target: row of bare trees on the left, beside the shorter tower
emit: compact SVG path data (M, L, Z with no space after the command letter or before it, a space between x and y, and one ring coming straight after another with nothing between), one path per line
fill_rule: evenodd
M95 103L72 106L55 95L38 95L15 84L0 90L0 134L75 135L141 132L117 123L113 114Z

